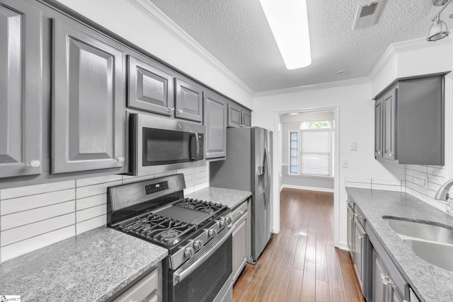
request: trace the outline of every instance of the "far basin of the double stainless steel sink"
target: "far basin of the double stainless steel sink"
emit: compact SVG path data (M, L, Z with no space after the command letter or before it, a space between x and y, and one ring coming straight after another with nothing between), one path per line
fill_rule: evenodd
M435 241L436 243L453 244L453 229L435 226L428 222L409 221L385 218L389 226L402 236Z

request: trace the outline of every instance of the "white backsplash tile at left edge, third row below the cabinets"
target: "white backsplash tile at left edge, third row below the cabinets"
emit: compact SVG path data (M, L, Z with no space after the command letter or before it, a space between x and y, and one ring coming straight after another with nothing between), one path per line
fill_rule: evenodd
M5 231L9 228L24 226L28 223L50 219L52 217L69 214L75 210L75 201L62 202L61 204L52 204L38 209L30 209L14 214L2 215L0 219L0 230Z

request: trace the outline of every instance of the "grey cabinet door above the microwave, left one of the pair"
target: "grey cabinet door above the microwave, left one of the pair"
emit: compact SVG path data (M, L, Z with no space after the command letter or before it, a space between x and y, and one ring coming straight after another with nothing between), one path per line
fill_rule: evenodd
M129 56L127 105L171 116L174 108L173 76L164 67Z

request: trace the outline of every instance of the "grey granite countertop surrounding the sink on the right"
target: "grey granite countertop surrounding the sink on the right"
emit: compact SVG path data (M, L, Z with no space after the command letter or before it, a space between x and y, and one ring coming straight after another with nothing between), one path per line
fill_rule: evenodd
M431 265L415 255L382 219L382 216L401 217L453 228L452 216L406 193L352 187L347 187L346 191L350 200L360 207L367 223L418 298L433 302L453 301L453 272Z

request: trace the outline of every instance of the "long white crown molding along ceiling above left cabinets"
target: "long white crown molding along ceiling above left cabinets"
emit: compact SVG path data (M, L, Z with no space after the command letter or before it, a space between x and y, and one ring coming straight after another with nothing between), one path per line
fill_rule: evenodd
M181 44L188 47L193 53L197 54L200 59L207 62L220 71L224 76L228 77L238 86L243 88L251 96L255 95L255 91L252 88L247 86L241 79L239 79L236 74L231 72L229 69L224 66L219 60L217 60L210 52L205 50L198 42L196 42L193 37L190 37L182 28L180 28L176 23L174 23L164 12L162 12L157 6L152 4L148 0L126 0L130 5L134 6L138 11L142 12L144 16L147 16L151 21L154 21L162 29L164 29L172 37L176 38Z

